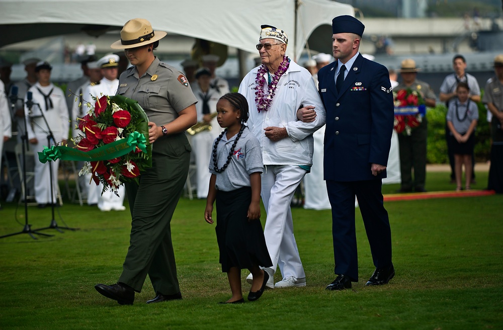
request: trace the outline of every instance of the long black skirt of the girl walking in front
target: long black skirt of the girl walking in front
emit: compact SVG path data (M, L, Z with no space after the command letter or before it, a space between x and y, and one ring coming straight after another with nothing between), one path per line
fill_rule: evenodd
M231 267L249 269L253 265L273 265L260 219L248 221L246 217L250 202L250 187L233 191L217 190L215 231L224 273Z

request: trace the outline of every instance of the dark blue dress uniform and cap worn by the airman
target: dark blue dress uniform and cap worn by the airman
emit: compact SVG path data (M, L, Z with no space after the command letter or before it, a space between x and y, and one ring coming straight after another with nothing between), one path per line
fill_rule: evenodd
M340 34L361 36L364 28L354 17L334 18L334 44L343 43L337 39ZM358 281L355 195L374 265L377 269L392 267L391 230L381 193L386 171L374 176L371 169L373 164L386 166L388 161L393 94L386 67L364 58L358 48L359 43L346 57L346 77L340 91L336 78L342 74L341 60L318 71L318 90L326 110L324 179L332 206L334 273L339 275L327 286L329 290L349 288L351 282Z

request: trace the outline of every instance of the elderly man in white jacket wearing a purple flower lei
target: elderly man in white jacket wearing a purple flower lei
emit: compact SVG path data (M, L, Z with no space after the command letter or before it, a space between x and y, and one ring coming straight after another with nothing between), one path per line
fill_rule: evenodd
M244 77L239 93L249 105L248 127L258 138L264 161L262 201L267 212L264 235L272 268L266 268L268 288L305 286L306 279L293 234L290 210L295 189L312 165L312 134L325 123L325 110L311 74L285 56L283 30L262 25L257 44L262 64ZM311 111L311 122L297 112ZM279 265L283 280L274 284ZM251 274L247 277L251 283Z

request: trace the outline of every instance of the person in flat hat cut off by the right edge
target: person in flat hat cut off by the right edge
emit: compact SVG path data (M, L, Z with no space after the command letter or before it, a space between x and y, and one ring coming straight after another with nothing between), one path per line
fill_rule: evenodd
M487 80L482 102L492 114L491 167L487 189L503 193L503 54L494 58L495 76Z

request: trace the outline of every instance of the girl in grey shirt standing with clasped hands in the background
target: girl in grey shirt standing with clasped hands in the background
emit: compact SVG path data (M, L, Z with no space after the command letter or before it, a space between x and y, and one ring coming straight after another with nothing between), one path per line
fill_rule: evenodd
M457 99L449 103L447 111L447 126L451 130L449 138L453 139L454 173L456 175L456 191L461 188L461 166L465 166L465 188L470 189L472 177L472 154L475 146L475 127L478 120L478 107L468 98L470 88L466 82L460 82L456 87Z

